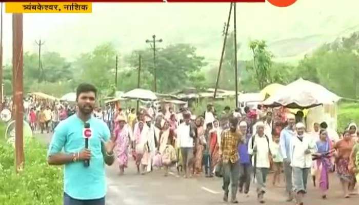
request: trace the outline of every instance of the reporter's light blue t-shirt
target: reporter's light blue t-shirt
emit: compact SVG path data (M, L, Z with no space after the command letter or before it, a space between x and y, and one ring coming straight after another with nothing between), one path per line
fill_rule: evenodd
M101 138L110 138L110 130L101 119L91 117L88 121L92 131L89 139L91 150L90 166L84 161L70 162L65 165L64 192L74 199L99 199L106 195L105 163L101 151ZM62 152L72 154L85 148L83 129L85 122L76 114L61 121L55 128L48 156Z

